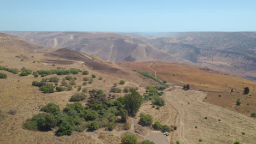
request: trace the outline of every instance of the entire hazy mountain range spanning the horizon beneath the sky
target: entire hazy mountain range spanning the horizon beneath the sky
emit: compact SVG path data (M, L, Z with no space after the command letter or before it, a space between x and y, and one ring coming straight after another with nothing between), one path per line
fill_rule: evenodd
M255 32L4 32L32 43L87 52L112 62L193 63L256 80Z

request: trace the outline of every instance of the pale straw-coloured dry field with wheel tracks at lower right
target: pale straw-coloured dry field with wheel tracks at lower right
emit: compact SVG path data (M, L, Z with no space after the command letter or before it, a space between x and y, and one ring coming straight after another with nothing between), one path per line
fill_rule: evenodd
M256 120L223 107L202 102L206 94L199 91L166 91L163 98L178 111L172 141L181 143L254 143ZM205 119L204 117L208 117ZM221 119L221 121L218 121ZM197 126L197 128L195 128ZM246 135L242 135L245 131Z

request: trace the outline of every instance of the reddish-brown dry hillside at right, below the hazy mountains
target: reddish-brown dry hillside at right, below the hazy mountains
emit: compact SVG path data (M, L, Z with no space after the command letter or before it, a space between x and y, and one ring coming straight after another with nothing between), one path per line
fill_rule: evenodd
M246 115L256 111L255 81L181 63L122 62L119 65L130 70L148 71L153 75L155 70L158 79L167 80L167 83L171 85L183 86L189 84L191 89L207 92L208 98L205 100L208 103L223 106ZM137 75L140 74L137 73ZM153 82L151 79L146 80ZM243 94L244 87L249 87L253 96ZM230 93L231 88L234 90L232 94ZM219 94L222 97L218 97ZM236 99L241 99L241 106L236 106Z

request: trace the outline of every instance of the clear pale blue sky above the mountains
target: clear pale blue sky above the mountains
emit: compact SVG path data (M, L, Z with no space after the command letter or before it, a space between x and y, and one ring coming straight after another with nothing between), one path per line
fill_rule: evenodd
M256 31L256 0L0 0L0 31Z

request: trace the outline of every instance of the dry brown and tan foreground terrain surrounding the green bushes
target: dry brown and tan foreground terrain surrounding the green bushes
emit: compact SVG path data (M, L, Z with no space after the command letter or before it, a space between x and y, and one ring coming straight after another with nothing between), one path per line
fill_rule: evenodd
M69 39L72 38L75 39L75 37ZM51 76L56 76L61 80L67 75L19 76L0 70L0 73L8 75L7 79L0 79L0 109L3 110L4 115L4 118L0 119L0 143L110 144L121 143L125 134L136 135L138 141L150 140L156 144L174 144L177 140L187 144L231 144L235 140L239 140L243 144L253 144L255 142L256 119L250 117L251 112L256 112L255 81L183 63L150 61L115 64L105 61L112 61L111 58L107 59L107 57L97 55L101 59L91 56L89 55L91 51L87 52L85 49L84 51L57 49L62 47L57 45L54 48L51 47L52 45L49 45L49 47L38 46L31 42L31 40L28 42L12 35L0 33L0 66L19 70L26 67L33 71L50 70L57 67L86 70L89 75L82 75L81 73L71 75L77 77L75 86L82 86L88 88L88 90L102 89L106 93L106 97L108 97L108 94L115 94L115 97L110 98L109 96L109 99L112 100L126 94L125 92L110 92L114 83L119 83L120 80L125 80L125 84L118 84L117 88L138 87L137 91L141 95L146 93L146 86L160 86L159 82L148 79L137 72L147 71L157 79L167 81L166 85L169 85L169 87L163 91L164 94L161 96L164 98L166 105L161 106L158 110L152 107L151 100L143 101L137 115L128 118L127 124L130 127L127 130L123 128L124 124L118 124L112 131L101 128L96 131L74 131L71 136L56 136L57 128L50 131L33 131L26 129L24 123L34 115L42 113L39 111L40 108L49 102L60 105L61 110L63 110L66 104L73 103L69 99L71 95L77 93L77 88L74 87L72 91L42 93L38 87L32 86L31 83ZM129 45L130 43L135 43L135 40L130 41ZM100 47L100 45L98 46ZM94 47L91 47L91 50L94 50ZM155 49L153 50L155 51ZM124 58L125 56L121 57ZM143 61L146 60L149 61L150 59L143 59ZM83 86L83 77L91 76L91 74L96 75L96 79L93 83ZM102 77L102 80L98 77ZM190 89L184 91L182 87L186 84L190 85ZM59 85L61 85L60 82ZM251 96L242 94L244 87L250 88L249 94ZM231 88L234 89L232 94L230 92ZM222 97L218 97L219 94ZM236 105L237 98L242 101L240 106ZM86 98L80 103L85 106L88 99ZM9 110L16 110L16 113L12 115ZM152 127L143 127L138 123L139 114L142 112L152 115L154 121L159 121L168 127L176 125L177 130L171 131L170 136L165 136ZM241 134L243 131L245 135ZM202 142L199 142L199 139L202 139Z

